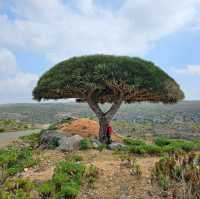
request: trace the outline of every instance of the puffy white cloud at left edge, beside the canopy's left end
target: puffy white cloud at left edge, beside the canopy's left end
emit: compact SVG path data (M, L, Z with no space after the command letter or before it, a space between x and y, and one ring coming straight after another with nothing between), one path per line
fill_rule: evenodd
M38 77L17 67L12 52L0 50L0 103L31 100L32 88Z

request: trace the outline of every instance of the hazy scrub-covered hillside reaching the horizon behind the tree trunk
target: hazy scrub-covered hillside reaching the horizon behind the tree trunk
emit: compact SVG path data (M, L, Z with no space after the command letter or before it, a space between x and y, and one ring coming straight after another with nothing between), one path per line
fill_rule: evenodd
M104 105L104 109L108 109ZM94 114L87 104L33 103L0 105L0 119L17 119L31 123L54 123L68 116L90 117ZM200 101L183 101L174 105L136 103L124 104L114 118L113 125L121 134L170 135L172 137L200 137Z

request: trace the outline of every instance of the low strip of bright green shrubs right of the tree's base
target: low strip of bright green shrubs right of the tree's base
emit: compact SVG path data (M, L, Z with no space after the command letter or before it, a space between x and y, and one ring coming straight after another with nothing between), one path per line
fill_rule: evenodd
M200 149L199 141L187 141L178 139L167 139L159 137L152 144L147 144L143 140L126 138L125 149L136 154L164 154L176 151L195 151Z

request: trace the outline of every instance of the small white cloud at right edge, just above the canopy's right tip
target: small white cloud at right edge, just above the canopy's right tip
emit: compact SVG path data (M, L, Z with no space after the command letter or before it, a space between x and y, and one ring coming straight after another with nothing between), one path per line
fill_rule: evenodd
M182 69L176 69L175 73L183 75L200 76L200 65L188 65Z

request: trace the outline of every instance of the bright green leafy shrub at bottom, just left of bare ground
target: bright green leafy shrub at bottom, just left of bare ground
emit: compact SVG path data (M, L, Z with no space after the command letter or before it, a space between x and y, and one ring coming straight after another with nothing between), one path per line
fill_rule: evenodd
M76 162L62 161L54 170L51 181L38 189L42 199L75 198L84 178L85 166Z

